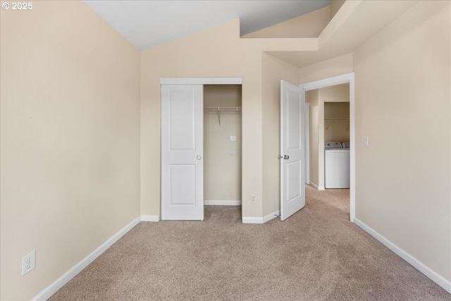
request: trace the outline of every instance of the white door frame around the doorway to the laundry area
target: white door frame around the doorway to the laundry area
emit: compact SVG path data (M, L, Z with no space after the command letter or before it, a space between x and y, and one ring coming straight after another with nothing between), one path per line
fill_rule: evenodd
M332 78L325 78L323 80L315 80L307 82L299 87L304 92L309 90L321 89L323 87L330 87L340 84L350 84L350 221L355 219L355 99L354 99L354 73L347 73L343 75L334 76Z

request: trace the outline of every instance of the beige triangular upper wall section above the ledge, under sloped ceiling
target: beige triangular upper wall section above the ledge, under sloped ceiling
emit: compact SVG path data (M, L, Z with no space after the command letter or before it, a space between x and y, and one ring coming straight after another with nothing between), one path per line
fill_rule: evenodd
M326 6L242 37L319 37L329 21L330 9L329 6Z

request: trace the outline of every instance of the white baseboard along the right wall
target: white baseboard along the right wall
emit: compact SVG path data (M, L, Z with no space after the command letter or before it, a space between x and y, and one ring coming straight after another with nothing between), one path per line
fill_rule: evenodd
M415 269L419 270L421 273L423 273L425 276L430 278L433 282L440 285L444 290L446 290L448 293L451 294L451 281L445 279L443 276L440 276L435 271L433 271L431 268L426 266L426 264L420 262L418 259L413 257L411 254L405 252L400 247L395 245L393 242L388 240L387 238L383 237L383 235L379 234L378 232L374 231L373 228L370 228L367 226L364 222L360 221L357 218L354 218L354 223L362 228L364 231L369 233L369 235L373 236L373 238L376 238L379 242L381 242L385 247L388 247L388 249L392 250L397 256L404 259L406 262L414 266Z

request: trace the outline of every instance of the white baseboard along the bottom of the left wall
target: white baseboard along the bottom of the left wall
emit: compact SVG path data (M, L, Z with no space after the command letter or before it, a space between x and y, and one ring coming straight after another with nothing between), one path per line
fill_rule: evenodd
M132 230L133 227L135 227L138 223L140 223L141 217L138 217L131 223L129 223L127 226L122 228L118 233L113 235L109 240L106 240L100 247L98 247L96 250L94 250L91 254L87 255L84 259L82 259L81 262L78 262L78 264L75 264L70 270L66 271L66 273L63 274L60 278L56 279L54 283L51 283L51 285L47 286L47 288L44 288L41 293L37 294L35 297L32 298L32 300L47 300L49 297L54 295L60 288L62 288L66 283L68 283L72 278L77 276L82 269L85 269L86 266L88 266L91 262L94 262L94 260L99 257L103 252L106 251L111 245L113 245L114 242L118 241L119 238L123 237L128 231Z

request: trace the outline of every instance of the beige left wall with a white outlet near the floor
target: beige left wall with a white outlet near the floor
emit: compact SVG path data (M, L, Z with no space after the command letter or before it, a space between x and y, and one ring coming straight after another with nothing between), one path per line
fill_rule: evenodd
M140 53L81 1L0 19L0 298L30 300L140 216Z

